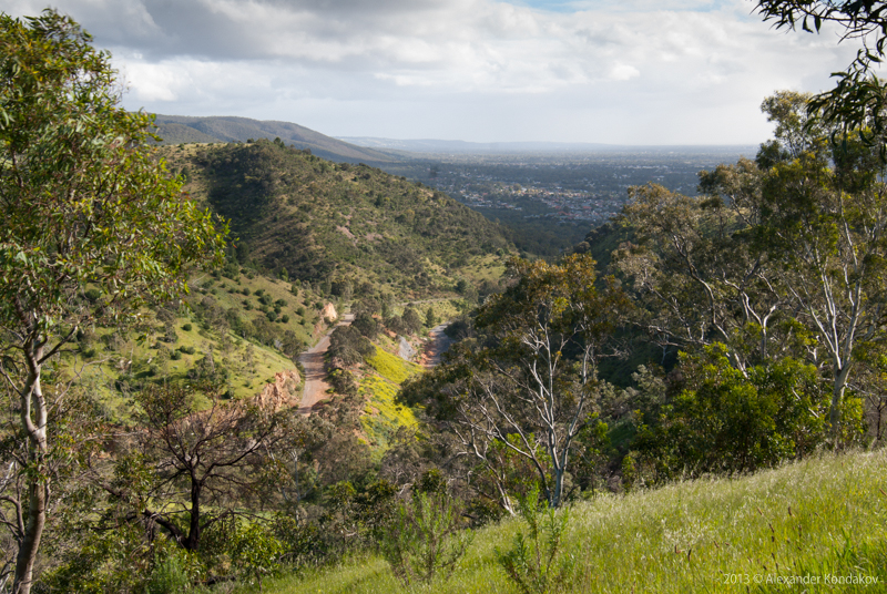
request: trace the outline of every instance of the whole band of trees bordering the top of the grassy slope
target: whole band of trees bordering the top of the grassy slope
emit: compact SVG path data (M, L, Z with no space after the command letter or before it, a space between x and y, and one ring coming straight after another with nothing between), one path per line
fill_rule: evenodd
M884 443L885 164L808 100L767 99L776 137L702 172L699 196L633 187L570 256L516 260L446 362L404 389L469 509Z

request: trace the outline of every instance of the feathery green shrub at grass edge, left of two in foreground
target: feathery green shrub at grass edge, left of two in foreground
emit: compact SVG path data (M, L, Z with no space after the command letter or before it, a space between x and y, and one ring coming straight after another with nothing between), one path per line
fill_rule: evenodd
M379 551L405 585L448 578L471 544L459 512L446 493L416 492L400 503L386 526Z

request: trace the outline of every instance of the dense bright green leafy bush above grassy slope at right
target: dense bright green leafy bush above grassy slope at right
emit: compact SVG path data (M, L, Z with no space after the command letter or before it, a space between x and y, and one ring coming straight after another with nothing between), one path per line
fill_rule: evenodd
M660 479L754 471L807 455L826 438L828 396L813 366L784 358L743 375L715 344L682 356L680 369L685 383L639 419L636 447Z

